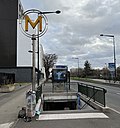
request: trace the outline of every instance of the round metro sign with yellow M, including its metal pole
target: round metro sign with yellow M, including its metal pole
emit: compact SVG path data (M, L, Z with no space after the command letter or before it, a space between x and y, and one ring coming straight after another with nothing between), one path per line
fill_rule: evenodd
M35 20L33 20L35 19ZM25 11L20 18L20 27L25 36L32 39L32 65L33 65L33 73L32 73L32 91L35 91L35 40L43 36L48 28L48 20L45 14L37 9L31 9ZM29 31L29 29L35 29L37 27L37 31ZM29 28L29 29L28 29Z

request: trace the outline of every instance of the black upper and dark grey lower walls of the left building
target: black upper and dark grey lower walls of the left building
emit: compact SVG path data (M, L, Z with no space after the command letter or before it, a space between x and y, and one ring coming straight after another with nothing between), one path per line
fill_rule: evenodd
M14 73L15 82L31 82L32 66L17 65L17 20L22 13L20 0L0 1L0 72Z

